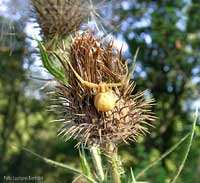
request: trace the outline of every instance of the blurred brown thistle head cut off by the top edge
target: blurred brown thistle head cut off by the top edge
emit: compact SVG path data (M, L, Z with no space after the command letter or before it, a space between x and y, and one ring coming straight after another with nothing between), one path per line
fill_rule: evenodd
M62 38L79 30L89 14L85 0L31 0L46 38Z

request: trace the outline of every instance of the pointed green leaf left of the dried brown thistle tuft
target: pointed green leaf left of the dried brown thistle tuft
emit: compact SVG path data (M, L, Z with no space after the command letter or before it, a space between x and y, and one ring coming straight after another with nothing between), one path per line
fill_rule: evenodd
M42 62L44 67L49 71L50 74L52 74L57 80L62 81L63 83L67 84L66 77L64 74L64 71L62 68L56 67L52 62L50 61L47 51L43 44L36 40L38 43L38 47L40 49L40 55L42 57Z

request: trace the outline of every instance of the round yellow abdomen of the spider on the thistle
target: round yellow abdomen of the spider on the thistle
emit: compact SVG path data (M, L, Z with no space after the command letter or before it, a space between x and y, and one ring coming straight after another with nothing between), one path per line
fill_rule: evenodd
M98 111L108 112L114 109L116 101L117 96L113 92L102 92L94 97L94 106Z

